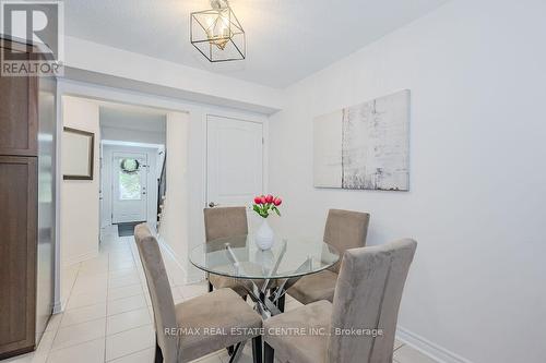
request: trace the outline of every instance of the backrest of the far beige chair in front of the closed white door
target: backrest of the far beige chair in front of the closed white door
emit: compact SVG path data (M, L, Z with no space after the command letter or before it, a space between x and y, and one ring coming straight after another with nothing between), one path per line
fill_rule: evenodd
M248 234L247 208L245 207L204 208L203 214L206 242Z

